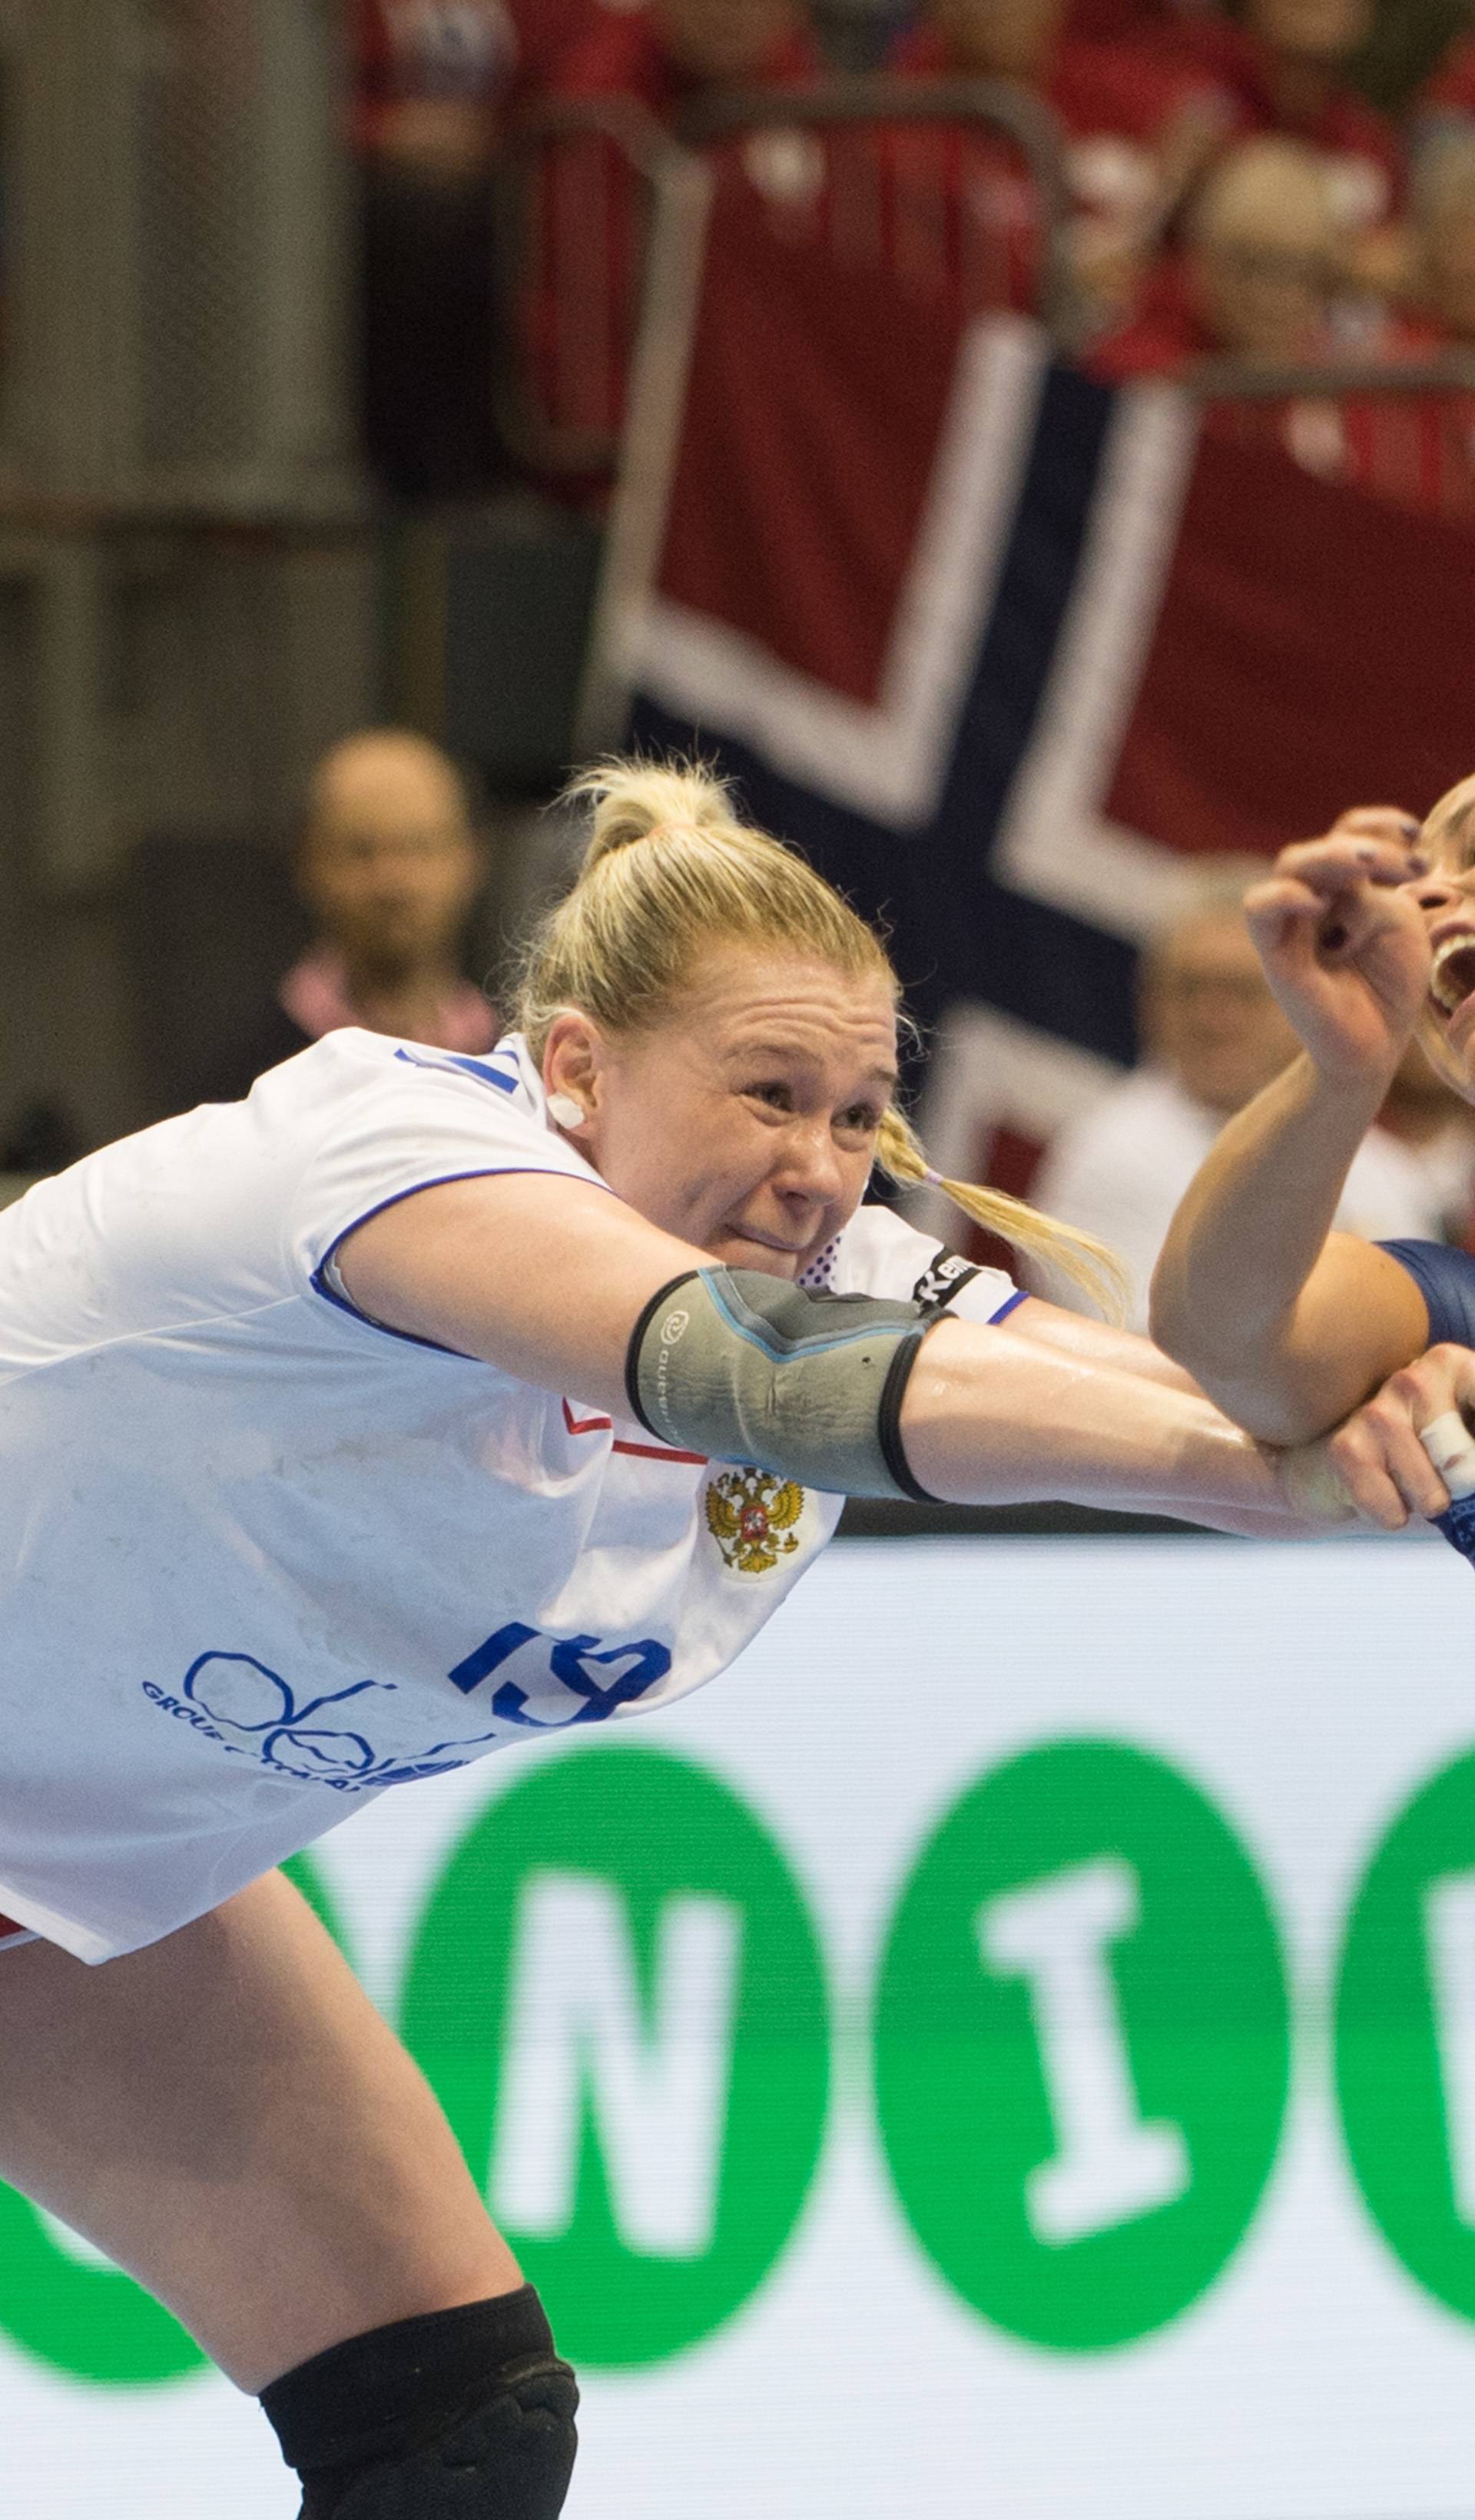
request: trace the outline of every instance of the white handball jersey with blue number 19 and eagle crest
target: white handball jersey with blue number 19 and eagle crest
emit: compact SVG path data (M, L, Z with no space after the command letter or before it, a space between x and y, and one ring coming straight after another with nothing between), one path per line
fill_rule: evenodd
M598 1174L517 1038L330 1033L0 1217L0 1913L151 1943L368 1794L734 1661L837 1497L363 1320L333 1250L434 1182ZM1021 1298L862 1210L835 1293Z

